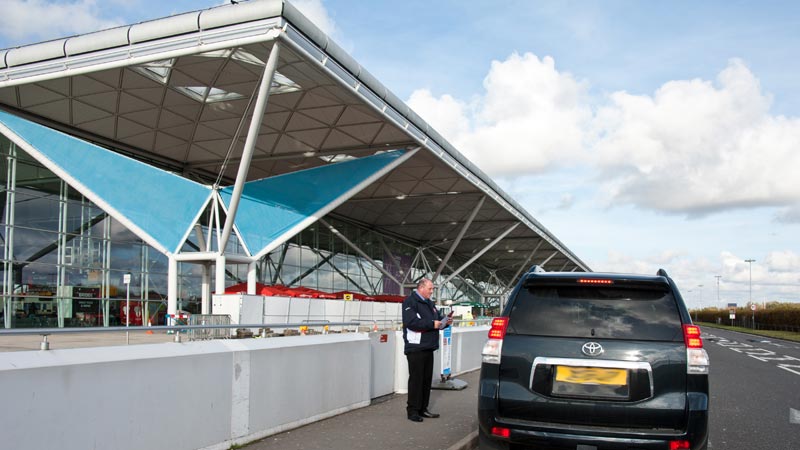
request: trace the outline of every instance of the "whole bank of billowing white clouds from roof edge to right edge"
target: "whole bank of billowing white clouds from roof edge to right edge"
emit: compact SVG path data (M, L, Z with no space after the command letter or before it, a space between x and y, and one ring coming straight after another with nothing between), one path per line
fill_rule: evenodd
M800 119L771 115L741 60L652 96L593 104L586 91L551 57L515 53L492 63L480 96L419 90L408 103L493 177L589 165L610 205L687 216L770 206L800 222Z

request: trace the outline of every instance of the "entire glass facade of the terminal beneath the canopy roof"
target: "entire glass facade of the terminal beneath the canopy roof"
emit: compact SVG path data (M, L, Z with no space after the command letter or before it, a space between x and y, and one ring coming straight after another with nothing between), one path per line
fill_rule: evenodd
M4 327L165 323L168 258L2 135L0 194ZM200 218L182 252L217 249L216 233L209 232L214 229L210 214L211 209ZM256 265L257 281L326 292L402 294L375 264L406 283L433 272L412 245L330 221L369 259L315 224L263 257ZM232 238L226 253L241 255L245 250ZM213 265L206 264L213 279ZM178 309L200 312L203 267L178 264ZM225 272L226 286L247 280L246 264L229 264ZM126 273L131 274L129 285L123 282ZM438 298L472 298L475 293L467 284L463 279L449 283L440 288ZM125 312L128 295L130 317Z

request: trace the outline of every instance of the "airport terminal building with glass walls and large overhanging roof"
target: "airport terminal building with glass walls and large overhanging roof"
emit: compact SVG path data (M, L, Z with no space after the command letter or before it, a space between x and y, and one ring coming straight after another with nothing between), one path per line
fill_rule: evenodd
M0 50L0 153L5 328L242 283L496 305L589 270L283 0Z

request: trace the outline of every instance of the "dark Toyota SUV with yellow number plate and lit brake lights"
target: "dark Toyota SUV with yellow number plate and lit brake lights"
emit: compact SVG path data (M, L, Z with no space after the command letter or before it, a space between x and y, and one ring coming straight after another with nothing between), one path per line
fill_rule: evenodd
M522 277L483 349L481 449L705 449L708 354L657 276Z

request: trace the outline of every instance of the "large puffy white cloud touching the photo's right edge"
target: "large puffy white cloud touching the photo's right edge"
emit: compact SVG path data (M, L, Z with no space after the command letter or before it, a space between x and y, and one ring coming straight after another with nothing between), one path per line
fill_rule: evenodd
M617 92L595 120L598 168L615 202L704 215L800 200L800 120L739 60L716 84L671 81L653 97Z

